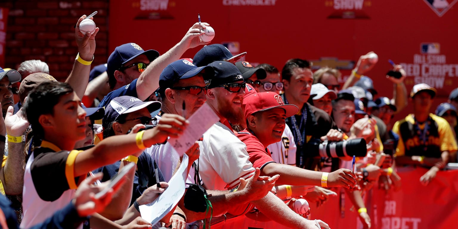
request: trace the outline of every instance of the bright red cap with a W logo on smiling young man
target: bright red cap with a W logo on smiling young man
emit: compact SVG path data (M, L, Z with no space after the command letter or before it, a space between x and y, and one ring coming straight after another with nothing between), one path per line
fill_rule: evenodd
M245 101L245 119L258 111L274 108L283 108L286 112L286 117L291 117L299 111L299 108L294 104L284 104L282 97L274 92L253 93L243 99L244 104Z

